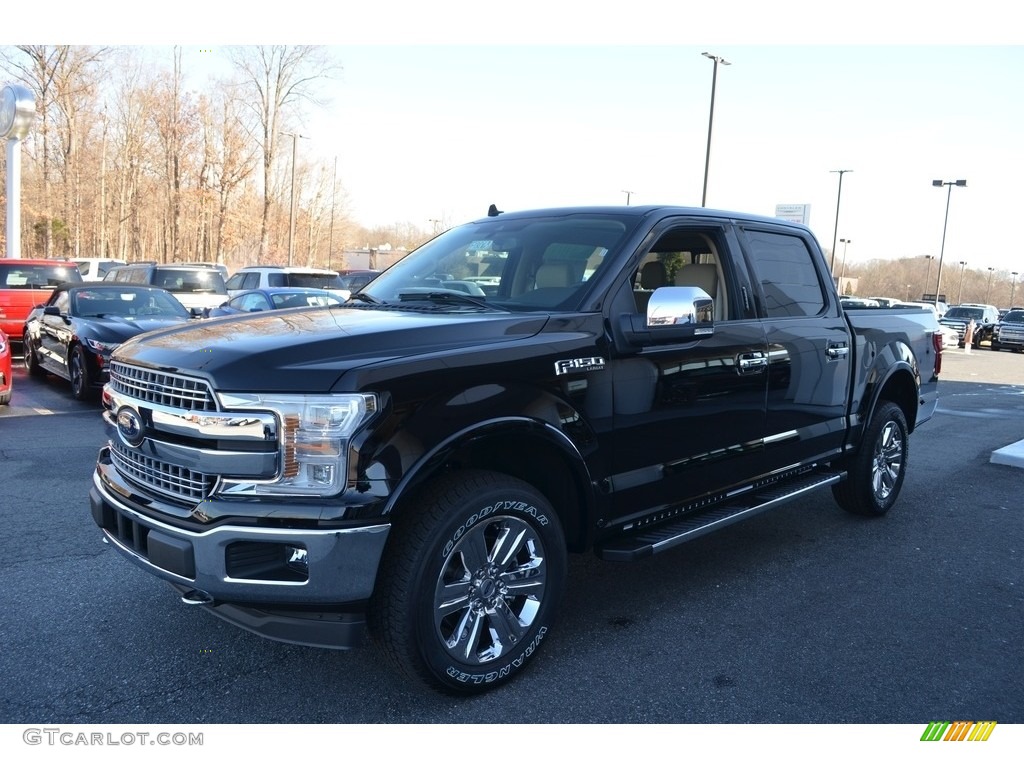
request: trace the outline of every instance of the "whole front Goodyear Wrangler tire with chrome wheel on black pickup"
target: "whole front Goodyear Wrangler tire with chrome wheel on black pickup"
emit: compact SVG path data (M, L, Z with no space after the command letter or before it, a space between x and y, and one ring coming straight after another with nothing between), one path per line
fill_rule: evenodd
M391 537L370 606L391 662L449 693L519 674L565 584L565 538L548 501L507 475L458 472L404 509Z

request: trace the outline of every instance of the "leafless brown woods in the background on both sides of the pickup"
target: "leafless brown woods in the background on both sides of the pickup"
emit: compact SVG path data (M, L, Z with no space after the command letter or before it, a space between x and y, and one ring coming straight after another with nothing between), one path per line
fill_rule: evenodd
M333 159L292 168L295 126L322 109L342 72L328 48L228 48L229 73L202 91L185 87L180 49L167 50L155 65L140 48L0 46L6 82L36 95L22 152L23 256L220 261L233 270L285 262L291 241L295 264L341 268L346 250L413 248L430 237L408 222L368 230L353 221ZM950 304L1024 304L1020 275L984 264L841 255L843 293L920 299L941 280Z

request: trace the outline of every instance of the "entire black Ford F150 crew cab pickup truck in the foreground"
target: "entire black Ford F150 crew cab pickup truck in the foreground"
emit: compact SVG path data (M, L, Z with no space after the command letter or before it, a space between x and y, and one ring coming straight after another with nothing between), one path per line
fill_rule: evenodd
M936 331L844 311L799 224L493 212L343 306L118 348L92 515L240 627L370 636L415 679L484 691L544 644L568 553L636 560L824 486L888 512Z

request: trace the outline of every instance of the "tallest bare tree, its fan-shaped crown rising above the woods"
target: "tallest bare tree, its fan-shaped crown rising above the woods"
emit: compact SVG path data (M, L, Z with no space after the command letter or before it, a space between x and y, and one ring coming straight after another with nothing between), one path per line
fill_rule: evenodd
M306 104L317 104L317 85L338 70L323 46L267 45L230 49L248 99L254 135L262 151L263 212L260 222L259 258L269 247L270 208L273 202L271 173L278 156L279 137L288 120L296 119Z

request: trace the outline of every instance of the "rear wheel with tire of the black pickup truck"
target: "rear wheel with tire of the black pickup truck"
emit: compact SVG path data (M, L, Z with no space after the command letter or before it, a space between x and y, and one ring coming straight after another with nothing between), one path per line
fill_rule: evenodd
M906 417L899 407L879 402L846 479L833 485L839 506L866 517L880 517L890 510L906 475L908 434Z

